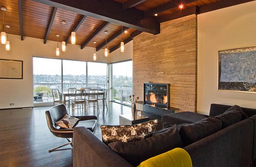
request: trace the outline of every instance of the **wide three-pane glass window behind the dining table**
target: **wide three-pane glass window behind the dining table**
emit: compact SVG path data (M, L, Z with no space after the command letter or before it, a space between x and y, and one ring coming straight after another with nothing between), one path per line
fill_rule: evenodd
M50 105L53 88L107 88L107 63L33 57L33 84L34 104Z

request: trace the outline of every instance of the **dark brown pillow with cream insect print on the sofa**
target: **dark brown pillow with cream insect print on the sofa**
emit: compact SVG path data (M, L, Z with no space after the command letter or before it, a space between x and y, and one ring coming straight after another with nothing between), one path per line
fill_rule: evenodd
M150 137L156 130L158 120L136 125L102 125L102 142L136 142Z

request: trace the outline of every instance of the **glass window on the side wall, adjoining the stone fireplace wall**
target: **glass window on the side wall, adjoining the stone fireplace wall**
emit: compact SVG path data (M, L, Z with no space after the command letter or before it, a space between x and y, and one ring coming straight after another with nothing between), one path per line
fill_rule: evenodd
M132 61L112 64L112 101L129 104L132 94Z

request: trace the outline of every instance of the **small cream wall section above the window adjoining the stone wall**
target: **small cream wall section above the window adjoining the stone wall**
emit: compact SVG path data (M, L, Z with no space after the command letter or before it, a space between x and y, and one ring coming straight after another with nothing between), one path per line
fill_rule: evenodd
M121 52L120 48L109 54L110 62L120 62L132 59L133 56L133 40L125 44L125 52Z

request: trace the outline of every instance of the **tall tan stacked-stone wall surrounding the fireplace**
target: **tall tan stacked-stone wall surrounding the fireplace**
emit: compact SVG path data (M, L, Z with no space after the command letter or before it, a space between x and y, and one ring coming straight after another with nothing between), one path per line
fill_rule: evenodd
M160 34L133 39L133 92L143 101L143 83L170 83L170 105L196 112L197 16L160 24Z

